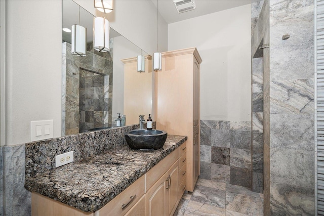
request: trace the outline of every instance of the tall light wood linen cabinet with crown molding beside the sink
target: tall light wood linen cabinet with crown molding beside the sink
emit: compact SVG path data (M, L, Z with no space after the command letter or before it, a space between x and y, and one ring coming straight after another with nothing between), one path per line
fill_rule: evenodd
M186 190L199 176L200 55L196 48L162 53L162 70L154 72L156 128L188 137ZM153 119L154 120L154 119Z

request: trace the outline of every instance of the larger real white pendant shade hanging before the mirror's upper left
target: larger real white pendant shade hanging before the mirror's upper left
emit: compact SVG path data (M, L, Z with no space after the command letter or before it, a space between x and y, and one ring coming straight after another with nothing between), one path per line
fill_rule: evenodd
M109 21L104 17L93 19L93 48L98 52L109 52Z

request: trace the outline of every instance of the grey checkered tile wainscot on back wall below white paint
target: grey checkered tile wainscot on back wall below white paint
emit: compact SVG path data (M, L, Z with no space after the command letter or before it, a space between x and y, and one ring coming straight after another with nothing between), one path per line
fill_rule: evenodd
M200 178L251 188L251 122L200 120Z

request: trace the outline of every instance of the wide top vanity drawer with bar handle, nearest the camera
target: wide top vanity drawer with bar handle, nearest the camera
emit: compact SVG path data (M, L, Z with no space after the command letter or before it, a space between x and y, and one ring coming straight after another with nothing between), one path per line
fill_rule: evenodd
M144 195L145 176L142 176L118 196L113 198L104 207L99 209L97 216L102 215L124 215L131 209ZM125 207L123 206L125 205Z

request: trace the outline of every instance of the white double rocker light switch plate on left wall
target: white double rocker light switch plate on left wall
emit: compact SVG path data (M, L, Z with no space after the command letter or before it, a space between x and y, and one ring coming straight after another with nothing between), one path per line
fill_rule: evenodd
M30 121L31 141L45 140L53 137L53 120Z

